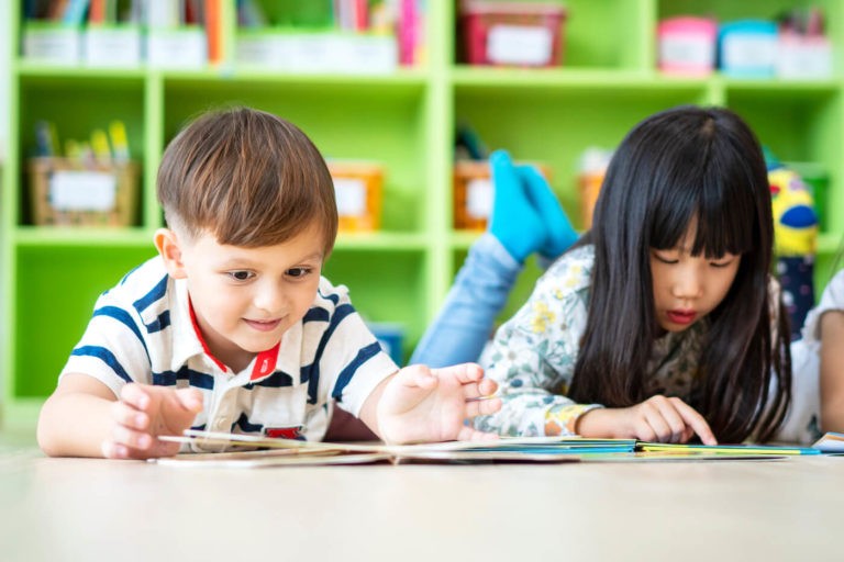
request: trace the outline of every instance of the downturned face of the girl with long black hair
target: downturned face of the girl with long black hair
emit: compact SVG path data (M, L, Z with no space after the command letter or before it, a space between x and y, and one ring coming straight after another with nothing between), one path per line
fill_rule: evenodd
M733 284L742 257L691 256L697 226L690 225L671 249L651 248L656 321L666 331L682 331L712 312Z

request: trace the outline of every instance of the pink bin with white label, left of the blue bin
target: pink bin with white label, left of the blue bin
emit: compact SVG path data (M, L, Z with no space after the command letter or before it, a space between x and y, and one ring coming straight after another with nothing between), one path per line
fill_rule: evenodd
M657 25L659 70L668 75L707 76L715 67L718 24L708 18L679 16Z

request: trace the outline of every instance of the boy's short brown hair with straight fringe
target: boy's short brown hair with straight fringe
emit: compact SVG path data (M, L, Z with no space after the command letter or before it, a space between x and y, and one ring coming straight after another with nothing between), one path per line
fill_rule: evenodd
M312 222L325 256L337 234L334 184L296 125L249 108L203 114L170 142L158 168L167 224L193 237L256 248L281 244Z

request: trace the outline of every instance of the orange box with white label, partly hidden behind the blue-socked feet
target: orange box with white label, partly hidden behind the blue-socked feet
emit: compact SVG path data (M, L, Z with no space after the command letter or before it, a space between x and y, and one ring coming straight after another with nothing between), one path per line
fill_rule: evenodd
M537 166L545 179L548 169ZM487 160L462 160L454 165L454 227L484 231L492 213L492 175Z

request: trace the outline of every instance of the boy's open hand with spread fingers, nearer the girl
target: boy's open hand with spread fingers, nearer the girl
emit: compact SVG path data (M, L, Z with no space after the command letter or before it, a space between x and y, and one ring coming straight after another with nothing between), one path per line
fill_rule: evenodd
M464 420L498 412L500 398L484 398L497 389L475 363L406 367L387 381L378 401L380 437L390 443L493 439Z

